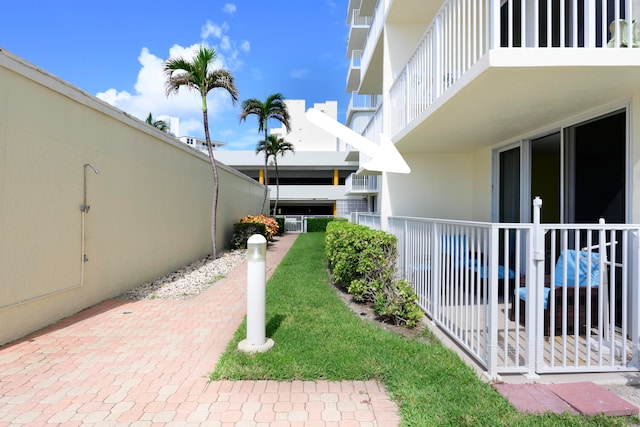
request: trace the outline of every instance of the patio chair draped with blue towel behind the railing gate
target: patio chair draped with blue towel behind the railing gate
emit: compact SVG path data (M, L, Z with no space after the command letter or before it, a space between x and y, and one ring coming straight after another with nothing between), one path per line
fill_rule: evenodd
M589 262L589 254L591 262ZM576 268L576 259L578 267ZM566 266L566 278L565 278ZM577 273L577 277L576 277ZM600 254L598 252L575 251L569 249L560 253L554 270L554 284L550 286L550 277L545 277L544 288L544 336L550 336L551 319L554 320L554 335L562 335L563 326L566 332L575 331L575 310L578 310L578 333L584 335L587 330L587 302L590 295L591 319L590 324L597 324L598 318L598 290L600 281ZM606 277L606 274L603 278ZM566 281L566 300L565 287ZM551 293L555 299L553 310L549 309ZM576 292L578 301L576 306ZM520 307L519 322L524 326L527 309L527 288L521 287L517 294ZM566 302L566 304L565 304ZM563 322L563 309L566 307L566 322ZM552 317L553 316L553 317ZM515 310L511 310L511 320L515 320Z

